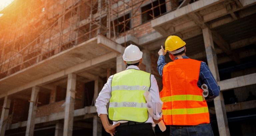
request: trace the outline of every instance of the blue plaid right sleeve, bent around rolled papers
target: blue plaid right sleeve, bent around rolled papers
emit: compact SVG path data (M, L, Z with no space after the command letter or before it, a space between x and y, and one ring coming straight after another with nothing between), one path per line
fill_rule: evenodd
M207 102L219 96L220 87L217 85L216 80L205 62L201 62L199 79L201 80L201 84L206 84L208 87L209 95L206 98Z

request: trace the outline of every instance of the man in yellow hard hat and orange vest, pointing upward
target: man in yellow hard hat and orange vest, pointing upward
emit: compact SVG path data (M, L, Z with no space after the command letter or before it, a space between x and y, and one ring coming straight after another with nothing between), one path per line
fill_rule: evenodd
M180 37L171 35L165 41L165 49L161 46L158 52L157 69L163 77L163 121L170 125L170 136L213 136L206 101L217 97L220 87L205 62L186 56L185 45ZM165 63L167 52L172 62ZM207 98L202 96L204 83L209 91Z

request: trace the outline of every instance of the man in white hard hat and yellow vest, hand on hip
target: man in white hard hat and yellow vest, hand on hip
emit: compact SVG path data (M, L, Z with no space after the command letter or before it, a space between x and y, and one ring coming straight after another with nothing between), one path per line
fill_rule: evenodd
M108 78L99 93L95 106L104 129L115 135L155 135L152 125L160 121L163 102L159 97L156 79L150 73L141 71L142 52L139 47L129 45L123 54L126 70ZM153 117L148 114L144 92L149 91ZM107 103L109 102L108 112ZM109 124L107 115L113 121Z

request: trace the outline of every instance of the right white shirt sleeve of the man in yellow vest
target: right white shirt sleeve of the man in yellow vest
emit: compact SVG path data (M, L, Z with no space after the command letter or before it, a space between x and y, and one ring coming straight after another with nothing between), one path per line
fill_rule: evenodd
M151 81L151 86L149 89L149 93L151 95L151 103L152 103L152 108L154 112L153 118L155 120L159 120L160 117L162 116L163 102L160 100L158 85L154 75L151 75L150 81Z

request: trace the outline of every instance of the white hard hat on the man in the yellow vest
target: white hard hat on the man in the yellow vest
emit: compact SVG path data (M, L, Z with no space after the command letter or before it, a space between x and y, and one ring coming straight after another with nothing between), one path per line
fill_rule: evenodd
M123 60L124 61L136 61L142 58L142 52L136 45L129 45L124 50Z

